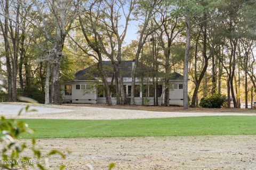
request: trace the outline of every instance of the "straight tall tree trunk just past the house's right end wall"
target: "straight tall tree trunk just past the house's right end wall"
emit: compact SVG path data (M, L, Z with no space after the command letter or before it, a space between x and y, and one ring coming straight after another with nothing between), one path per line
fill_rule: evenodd
M190 49L190 16L186 16L186 52L183 63L183 109L188 109L188 60L189 60L189 49Z

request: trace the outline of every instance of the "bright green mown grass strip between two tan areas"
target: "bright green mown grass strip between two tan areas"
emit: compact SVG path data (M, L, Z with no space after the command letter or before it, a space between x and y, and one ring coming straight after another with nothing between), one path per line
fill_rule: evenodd
M23 121L35 130L35 138L256 134L256 116ZM22 135L22 138L30 137L30 134Z

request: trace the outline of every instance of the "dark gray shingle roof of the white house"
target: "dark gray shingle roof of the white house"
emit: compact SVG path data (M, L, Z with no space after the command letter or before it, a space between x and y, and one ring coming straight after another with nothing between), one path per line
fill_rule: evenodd
M103 66L106 70L106 75L108 77L113 77L113 69L110 61L102 61ZM138 64L138 72L149 72L149 68L146 66L141 67L141 64ZM124 78L131 77L132 73L132 61L122 61L120 65L122 71L122 76ZM78 71L75 74L75 80L95 80L95 78L100 77L100 72L98 70L98 63L95 63L84 70ZM183 75L173 72L170 75L171 80L183 80Z

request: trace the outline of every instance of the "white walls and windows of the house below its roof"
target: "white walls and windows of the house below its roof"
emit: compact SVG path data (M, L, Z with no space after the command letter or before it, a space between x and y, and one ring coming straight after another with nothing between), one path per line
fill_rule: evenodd
M160 84L161 83L161 84ZM176 81L170 82L169 85L169 104L180 105L183 104L183 83ZM116 104L116 89L115 84L110 85L111 101ZM164 94L161 98L165 86L164 83L159 82L157 86L153 84L135 84L134 100L137 105L160 105L161 100L164 102ZM105 104L105 90L103 84L96 84L92 81L82 82L67 82L63 86L63 102L68 103L88 103L88 104ZM131 99L131 82L124 84L124 91L126 95L127 104Z

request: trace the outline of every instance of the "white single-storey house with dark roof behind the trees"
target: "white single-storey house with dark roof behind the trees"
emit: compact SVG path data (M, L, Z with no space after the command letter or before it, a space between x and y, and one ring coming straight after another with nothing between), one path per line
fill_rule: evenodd
M129 100L131 97L131 72L134 62L133 61L122 61L121 71L124 82L124 91L126 94L126 99ZM111 71L111 62L103 61L108 75L109 84L115 83L113 77L113 71ZM142 104L142 98L149 105L154 104L154 93L158 97L158 104L161 103L161 94L165 88L164 80L158 78L157 87L153 86L153 78L149 76L145 77L147 74L147 68L143 68L140 64L138 70L143 73L143 79L141 77L136 78L135 81L135 92L134 100L135 104ZM169 88L169 103L170 105L183 105L183 76L177 72L173 72L170 75L170 88ZM156 78L154 78L156 81ZM62 86L62 101L70 103L87 103L87 104L104 104L106 103L105 92L103 90L103 83L99 76L99 71L97 69L97 64L87 67L84 70L78 71L75 74L75 80L65 82ZM115 86L110 86L111 89L111 100L113 104L116 104L115 97ZM164 96L162 96L164 100ZM163 103L163 101L162 101Z

